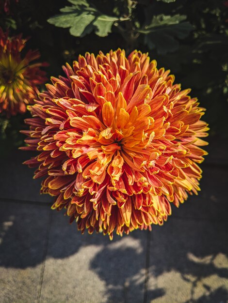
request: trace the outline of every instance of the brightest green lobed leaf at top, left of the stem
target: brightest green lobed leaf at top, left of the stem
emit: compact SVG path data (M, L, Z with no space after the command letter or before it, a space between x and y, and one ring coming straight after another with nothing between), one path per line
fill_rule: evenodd
M107 36L115 21L115 16L103 15L94 6L90 6L86 0L68 0L73 5L65 6L56 15L48 19L50 24L57 27L70 28L70 34L83 37L93 30L100 37Z

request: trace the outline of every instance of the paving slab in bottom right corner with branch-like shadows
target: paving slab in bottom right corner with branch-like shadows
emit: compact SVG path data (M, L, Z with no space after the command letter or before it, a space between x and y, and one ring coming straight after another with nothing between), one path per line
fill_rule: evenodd
M170 217L154 227L147 303L227 303L226 222Z

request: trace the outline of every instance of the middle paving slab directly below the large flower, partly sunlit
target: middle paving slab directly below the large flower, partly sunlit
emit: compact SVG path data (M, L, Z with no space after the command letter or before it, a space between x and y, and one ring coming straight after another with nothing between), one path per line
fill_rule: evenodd
M53 213L40 302L143 302L147 232L81 235Z

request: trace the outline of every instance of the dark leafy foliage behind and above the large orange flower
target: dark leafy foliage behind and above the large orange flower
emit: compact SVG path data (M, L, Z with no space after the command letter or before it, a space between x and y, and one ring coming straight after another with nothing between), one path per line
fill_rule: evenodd
M39 49L48 77L86 51L148 52L183 89L192 88L207 108L211 138L221 139L228 137L227 25L226 0L0 0L0 27L30 37L24 51ZM18 131L29 115L1 115L2 152L23 144Z

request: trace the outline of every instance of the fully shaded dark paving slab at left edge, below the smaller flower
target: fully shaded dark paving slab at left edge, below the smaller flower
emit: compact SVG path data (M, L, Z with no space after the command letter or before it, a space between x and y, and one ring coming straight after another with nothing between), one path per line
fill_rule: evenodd
M31 159L34 152L11 151L0 157L0 198L50 202L53 197L40 195L41 179L33 179L34 169L22 163Z

